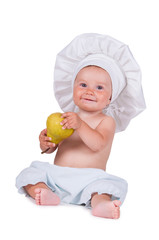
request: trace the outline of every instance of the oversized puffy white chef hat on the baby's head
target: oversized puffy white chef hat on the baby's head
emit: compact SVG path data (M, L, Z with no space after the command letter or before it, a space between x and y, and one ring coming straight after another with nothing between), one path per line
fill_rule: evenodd
M123 131L130 120L145 108L141 71L129 48L122 42L96 33L77 36L58 53L54 70L55 97L64 112L77 112L73 84L86 66L105 69L112 80L112 99L103 113L116 121L116 132Z

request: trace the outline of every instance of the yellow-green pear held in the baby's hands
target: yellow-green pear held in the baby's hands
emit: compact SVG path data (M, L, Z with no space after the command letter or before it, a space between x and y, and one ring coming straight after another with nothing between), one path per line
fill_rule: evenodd
M74 132L74 129L62 129L60 122L64 118L61 117L62 113L52 113L46 122L47 126L47 136L51 137L51 142L58 144L65 138L71 136Z

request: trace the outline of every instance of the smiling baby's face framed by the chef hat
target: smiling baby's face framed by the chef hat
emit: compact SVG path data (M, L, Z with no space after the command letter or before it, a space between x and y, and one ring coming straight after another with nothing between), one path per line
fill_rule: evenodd
M79 71L74 83L73 99L85 111L101 111L111 101L112 83L102 68L88 66Z

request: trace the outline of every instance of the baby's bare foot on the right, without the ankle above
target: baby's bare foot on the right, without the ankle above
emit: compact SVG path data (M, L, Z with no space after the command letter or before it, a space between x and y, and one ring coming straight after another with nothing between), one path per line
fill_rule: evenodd
M92 214L96 217L114 218L120 217L119 200L103 201L92 209Z

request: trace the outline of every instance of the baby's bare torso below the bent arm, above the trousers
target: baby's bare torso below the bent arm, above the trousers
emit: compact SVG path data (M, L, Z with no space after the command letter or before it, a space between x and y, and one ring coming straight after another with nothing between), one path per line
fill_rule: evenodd
M55 164L67 167L101 168L105 170L110 148L106 147L100 152L93 152L74 134L64 140L58 148Z

